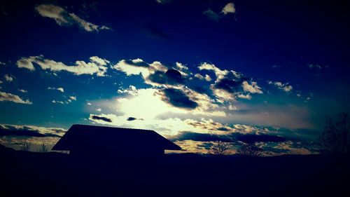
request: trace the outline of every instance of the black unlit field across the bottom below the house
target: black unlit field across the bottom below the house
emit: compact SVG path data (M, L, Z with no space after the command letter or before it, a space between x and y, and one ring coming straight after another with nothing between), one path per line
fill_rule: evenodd
M0 158L1 196L350 196L344 156L97 161L1 147Z

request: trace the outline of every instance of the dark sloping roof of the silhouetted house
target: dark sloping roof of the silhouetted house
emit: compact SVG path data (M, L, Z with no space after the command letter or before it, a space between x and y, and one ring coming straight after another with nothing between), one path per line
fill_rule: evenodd
M52 147L56 151L69 151L72 147L158 147L165 150L181 150L154 130L112 128L96 125L72 125L64 136Z

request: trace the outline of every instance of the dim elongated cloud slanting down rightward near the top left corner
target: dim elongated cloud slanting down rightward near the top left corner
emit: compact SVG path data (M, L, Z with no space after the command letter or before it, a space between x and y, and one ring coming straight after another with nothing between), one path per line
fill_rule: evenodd
M99 32L102 29L111 29L106 26L94 25L92 22L87 22L74 13L68 13L60 6L52 4L41 4L35 7L35 10L45 18L52 18L58 25L73 25L77 24L87 32Z

